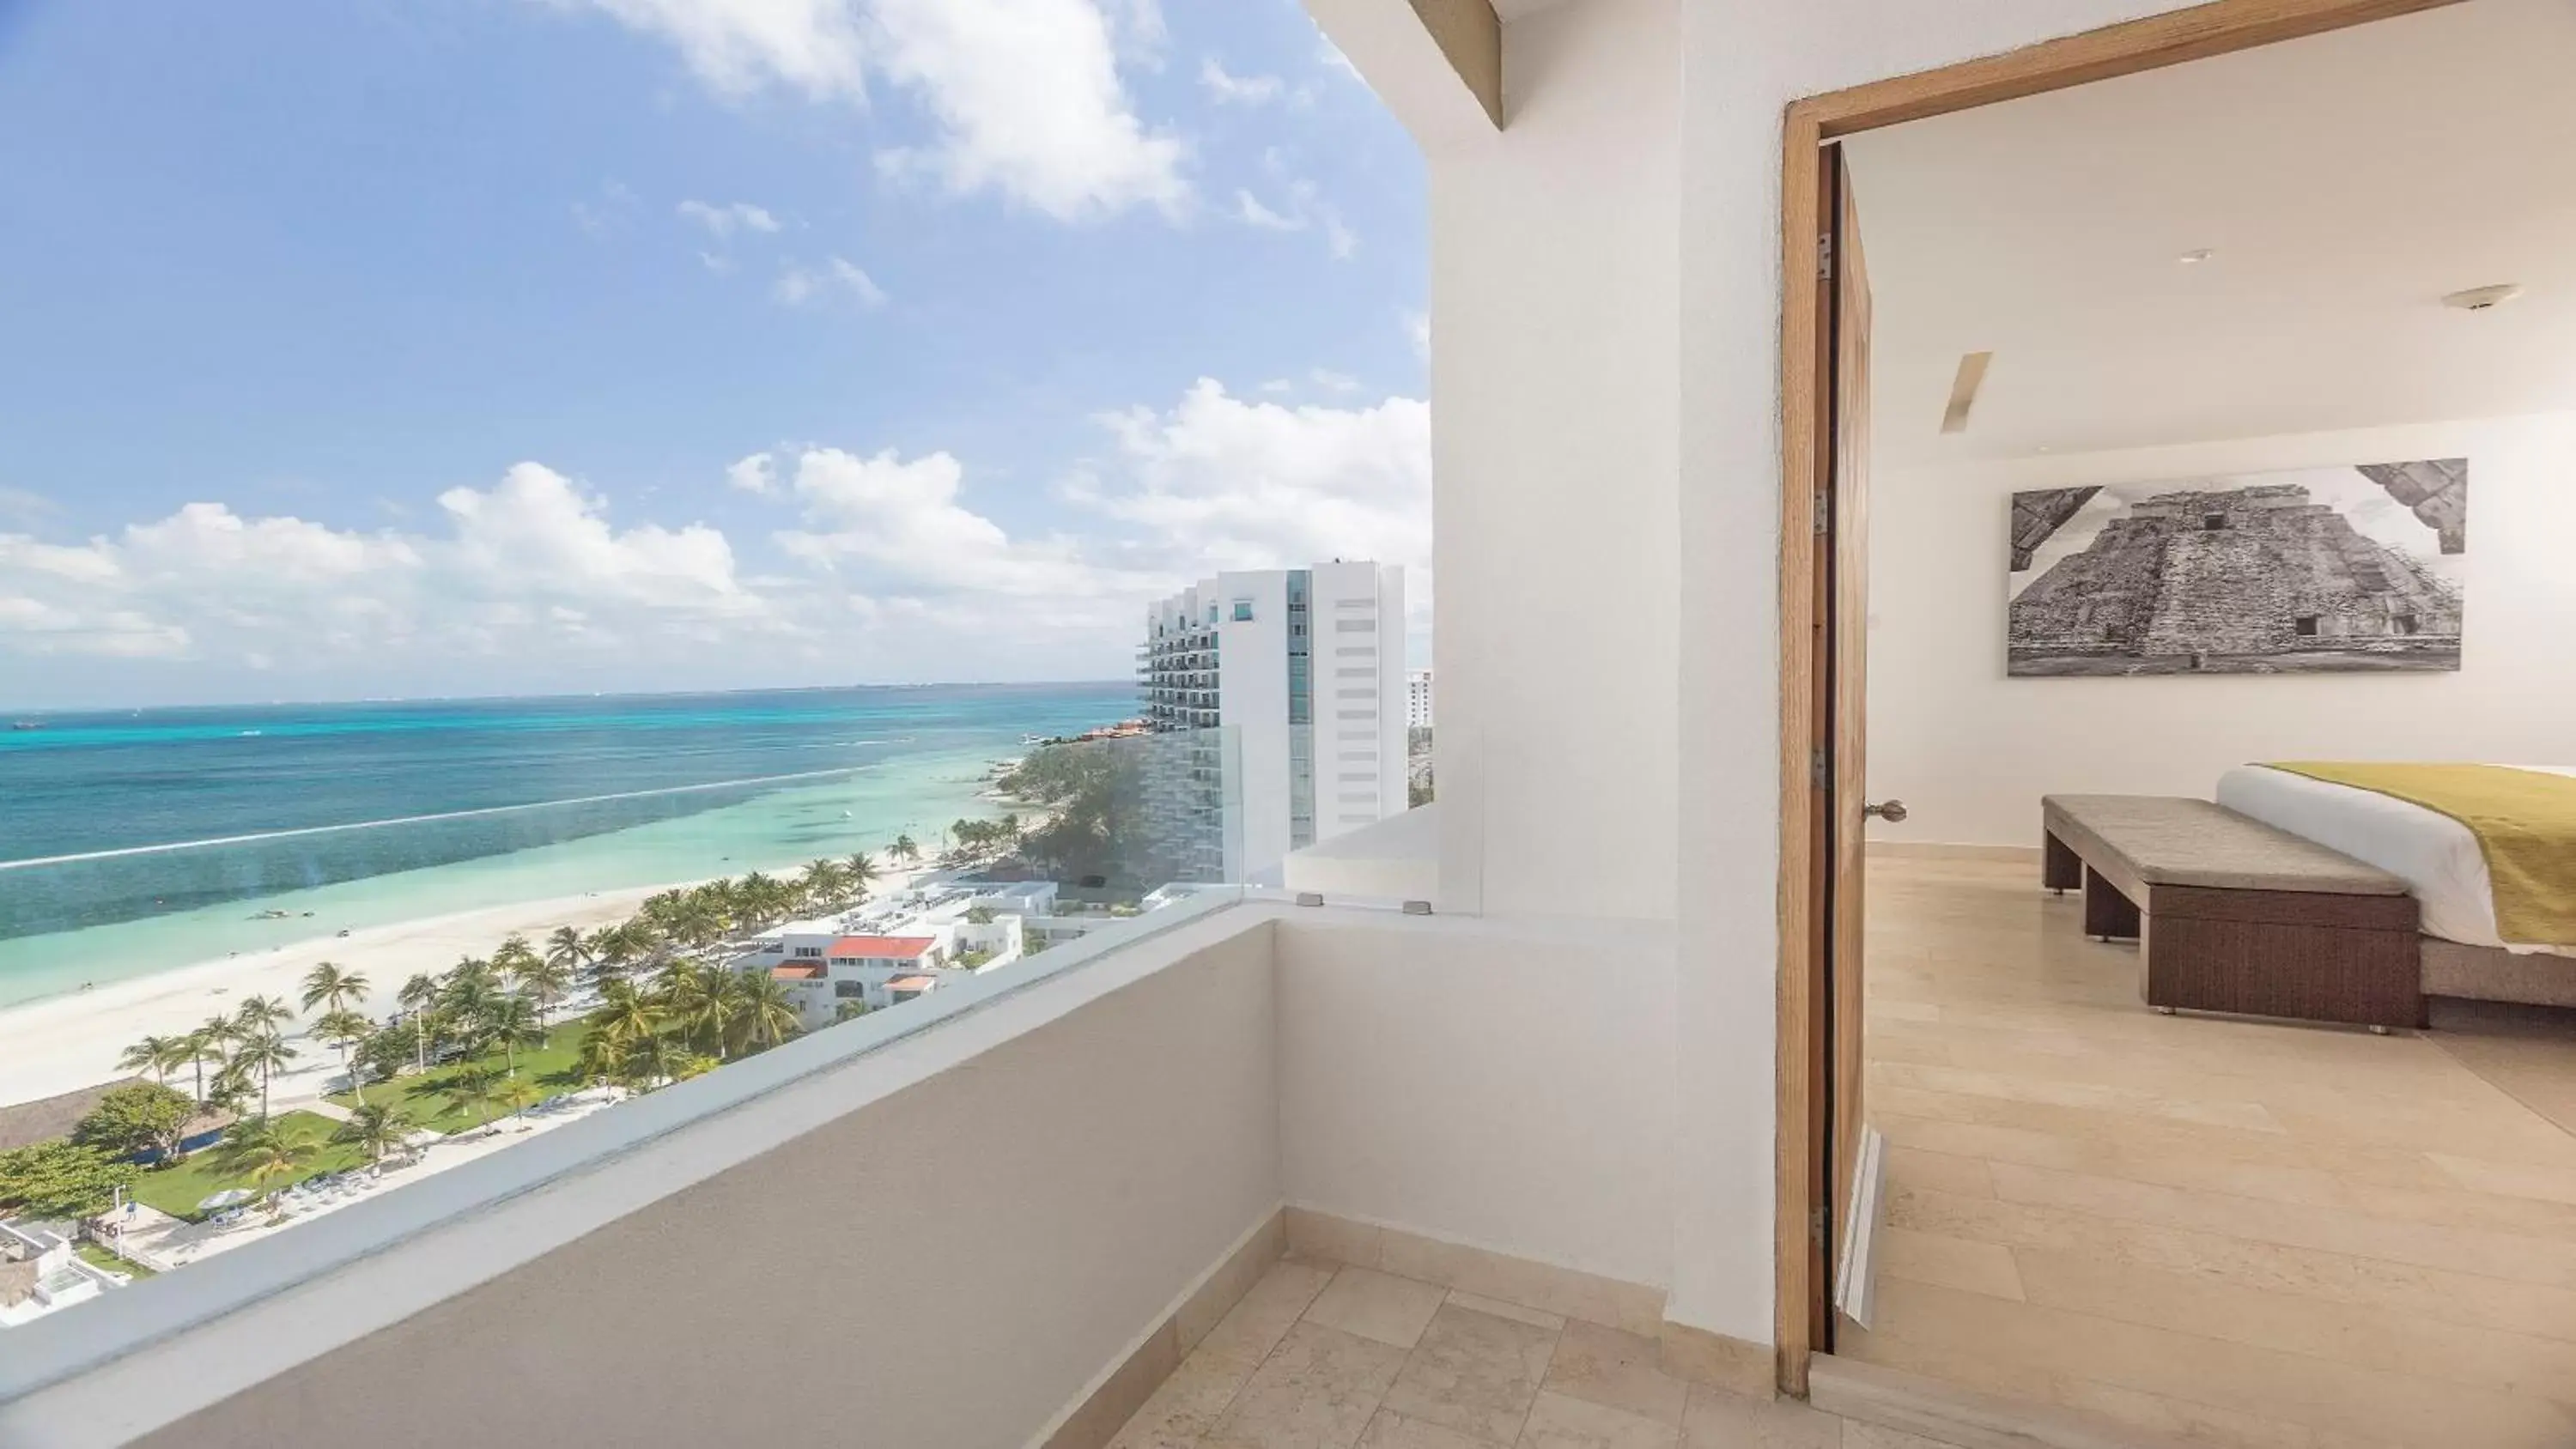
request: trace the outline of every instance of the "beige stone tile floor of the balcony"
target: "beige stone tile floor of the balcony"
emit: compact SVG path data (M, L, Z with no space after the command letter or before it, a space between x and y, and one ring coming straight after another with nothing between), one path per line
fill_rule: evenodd
M1270 1269L1113 1449L1945 1449L1685 1385L1636 1333L1298 1259Z

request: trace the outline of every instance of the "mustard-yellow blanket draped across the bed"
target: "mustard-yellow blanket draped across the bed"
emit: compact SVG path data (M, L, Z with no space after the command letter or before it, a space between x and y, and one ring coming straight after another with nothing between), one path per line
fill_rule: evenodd
M2450 816L2478 836L2496 934L2576 942L2576 777L2504 764L2272 764Z

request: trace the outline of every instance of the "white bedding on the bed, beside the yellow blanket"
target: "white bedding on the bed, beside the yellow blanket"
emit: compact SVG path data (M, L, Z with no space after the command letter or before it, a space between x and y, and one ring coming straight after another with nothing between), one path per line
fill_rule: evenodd
M2576 767L2563 764L2514 764L2514 770L2576 775ZM2478 849L2478 836L2450 816L2378 790L2259 764L2221 775L2218 803L2406 880L2424 906L2427 937L2522 955L2576 955L2576 942L2504 945L2496 934L2496 893L2486 880L2486 852Z

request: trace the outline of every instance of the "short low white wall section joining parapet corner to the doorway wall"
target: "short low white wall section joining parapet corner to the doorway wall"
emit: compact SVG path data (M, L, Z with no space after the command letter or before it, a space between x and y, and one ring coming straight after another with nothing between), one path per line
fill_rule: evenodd
M1288 1202L1672 1282L1672 934L1293 911Z

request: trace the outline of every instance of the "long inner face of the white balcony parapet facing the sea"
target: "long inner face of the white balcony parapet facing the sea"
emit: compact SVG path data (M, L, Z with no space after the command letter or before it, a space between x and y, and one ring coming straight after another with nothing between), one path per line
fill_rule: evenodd
M1206 929L1226 927L1167 970L139 1444L1020 1449L1280 1204L1270 929L1257 914ZM1128 965L1095 963L992 1017ZM742 1112L786 1112L788 1096ZM196 1351L247 1346L209 1336ZM95 1416L62 1423L0 1423L0 1444L124 1439Z

